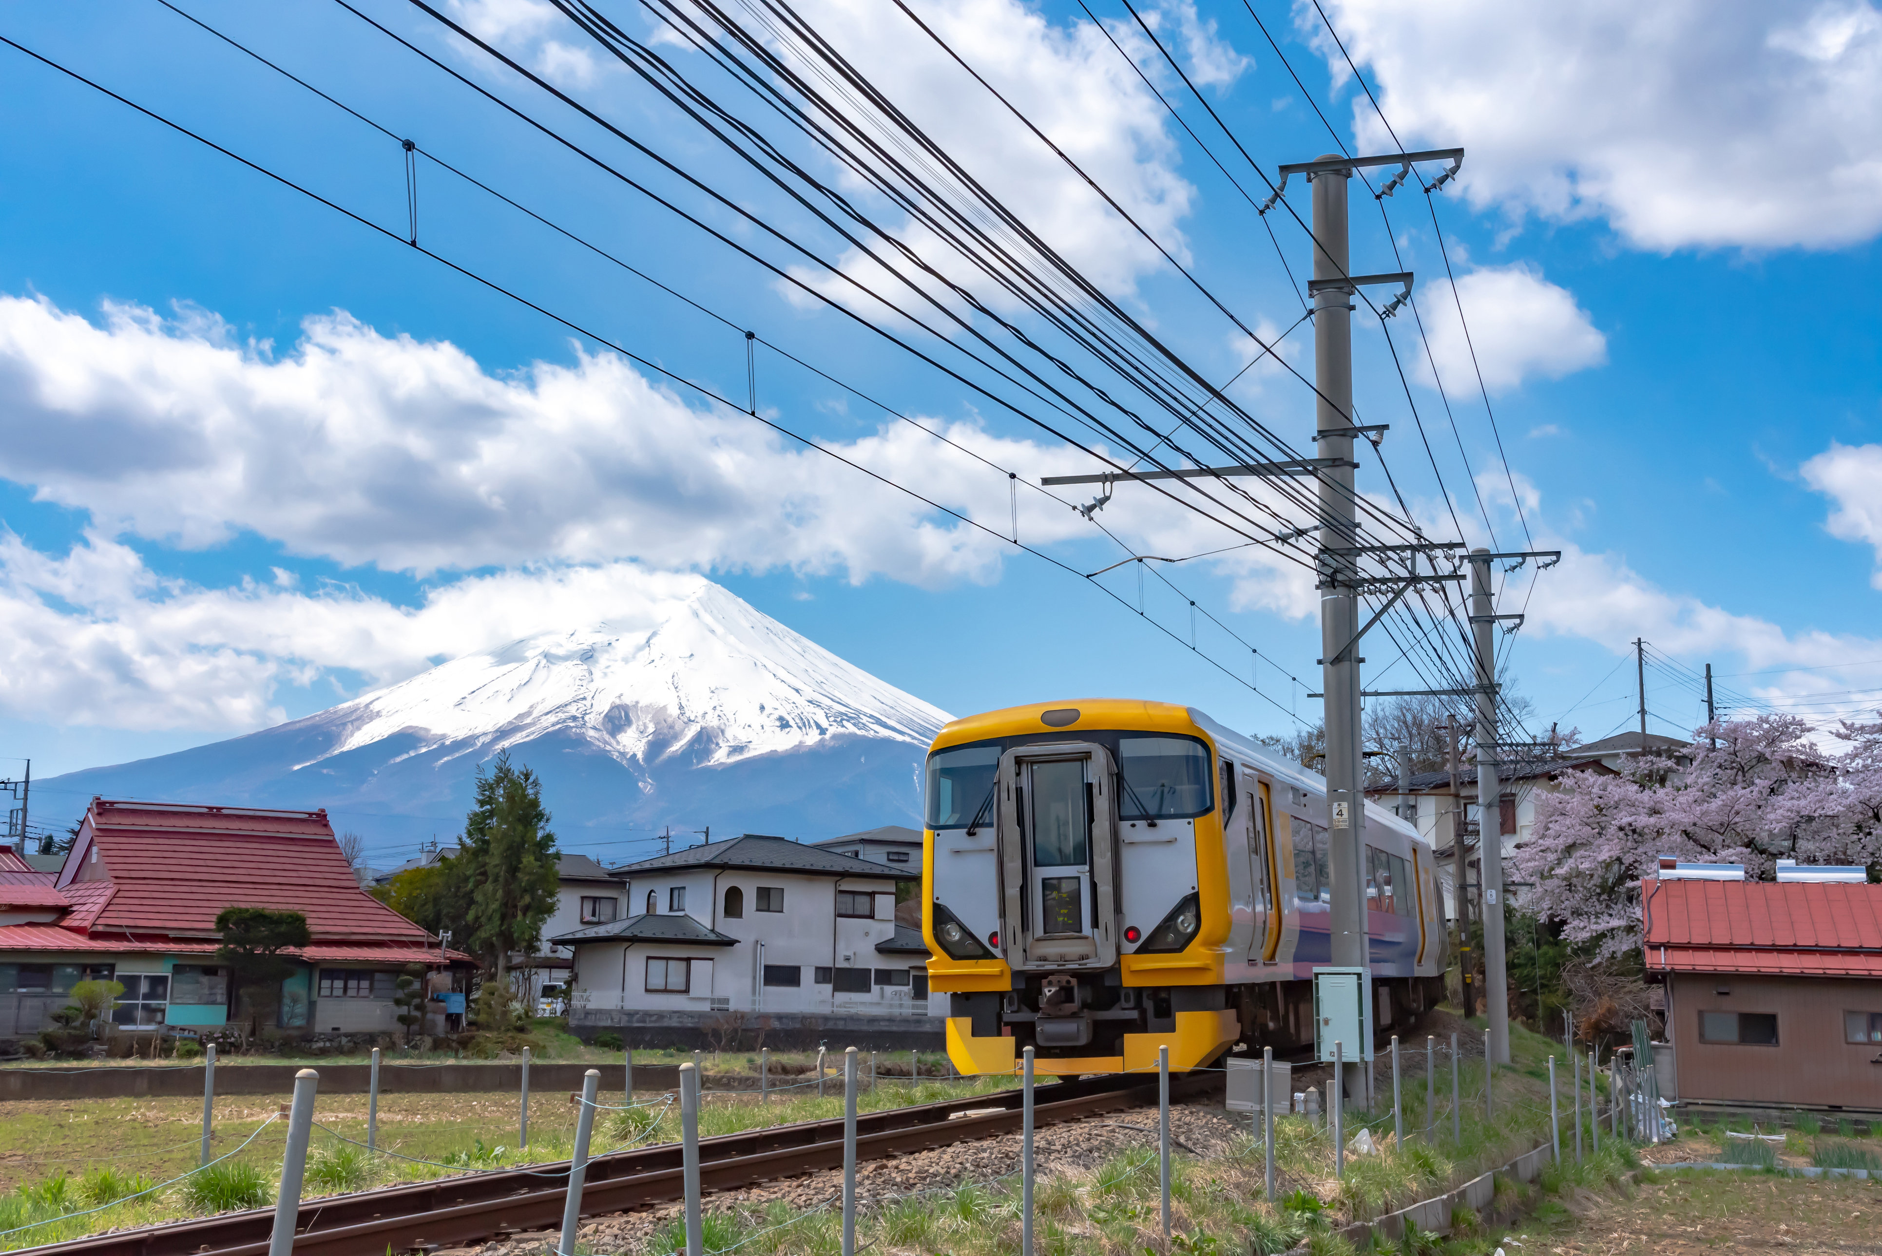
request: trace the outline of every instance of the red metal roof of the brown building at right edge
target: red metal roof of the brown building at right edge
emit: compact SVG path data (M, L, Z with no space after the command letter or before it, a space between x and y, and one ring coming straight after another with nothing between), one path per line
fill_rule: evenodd
M1647 968L1882 976L1882 886L1643 880Z

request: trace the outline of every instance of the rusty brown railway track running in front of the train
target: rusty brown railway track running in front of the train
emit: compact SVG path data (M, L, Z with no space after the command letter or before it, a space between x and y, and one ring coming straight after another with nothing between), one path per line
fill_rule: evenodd
M1171 1077L1171 1098L1220 1085L1220 1074ZM1060 1081L1033 1094L1039 1126L1080 1121L1154 1104L1154 1077L1088 1077ZM885 1160L1020 1128L1020 1091L973 1094L856 1117L856 1158ZM681 1198L679 1145L636 1147L589 1160L582 1217L625 1213ZM764 1181L843 1168L843 1123L805 1121L700 1139L700 1185L706 1194ZM433 1183L331 1196L301 1203L295 1256L382 1256L431 1252L561 1224L563 1186L534 1170L467 1173ZM201 1220L122 1230L26 1248L34 1256L265 1256L273 1209L224 1213Z

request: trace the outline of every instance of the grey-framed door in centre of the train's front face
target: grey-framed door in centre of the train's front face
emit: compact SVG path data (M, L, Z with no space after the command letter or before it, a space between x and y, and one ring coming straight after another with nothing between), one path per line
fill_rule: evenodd
M1003 756L1001 880L1014 968L1116 961L1110 752L1037 746Z

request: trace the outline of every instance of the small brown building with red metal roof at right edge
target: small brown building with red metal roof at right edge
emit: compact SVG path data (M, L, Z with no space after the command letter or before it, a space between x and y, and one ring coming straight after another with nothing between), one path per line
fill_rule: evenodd
M1641 914L1667 1098L1882 1113L1882 886L1863 869L1667 867L1641 882Z

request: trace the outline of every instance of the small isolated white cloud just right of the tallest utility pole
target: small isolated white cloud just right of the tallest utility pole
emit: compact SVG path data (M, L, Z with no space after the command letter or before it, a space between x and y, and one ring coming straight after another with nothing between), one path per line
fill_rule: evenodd
M1457 303L1462 303L1464 318L1470 320L1468 338L1457 318ZM1460 275L1457 301L1445 282L1430 284L1419 310L1438 378L1451 395L1474 393L1477 369L1483 370L1487 389L1507 393L1532 378L1560 380L1607 361L1607 337L1575 305L1575 295L1524 263ZM1415 361L1419 380L1430 384L1430 363L1423 355Z

